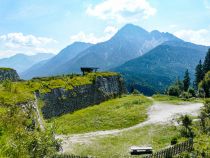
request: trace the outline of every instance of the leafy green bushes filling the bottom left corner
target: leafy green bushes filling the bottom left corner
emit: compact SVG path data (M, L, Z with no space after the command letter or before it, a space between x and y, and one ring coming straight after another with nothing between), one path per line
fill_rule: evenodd
M46 157L55 154L59 141L53 131L40 131L35 124L31 109L24 111L14 105L0 107L0 156L1 157Z

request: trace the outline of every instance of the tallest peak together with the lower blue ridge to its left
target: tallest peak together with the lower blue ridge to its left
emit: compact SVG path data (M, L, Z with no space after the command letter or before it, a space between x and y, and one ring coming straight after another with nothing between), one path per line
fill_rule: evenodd
M165 41L171 40L181 41L169 33L161 33L157 30L148 32L141 27L127 24L108 41L95 45L81 42L73 43L42 67L32 68L24 72L22 76L32 78L35 76L78 73L80 67L98 67L101 71L108 70L145 54ZM81 50L77 49L75 51L75 45L80 47ZM75 54L72 55L73 53Z

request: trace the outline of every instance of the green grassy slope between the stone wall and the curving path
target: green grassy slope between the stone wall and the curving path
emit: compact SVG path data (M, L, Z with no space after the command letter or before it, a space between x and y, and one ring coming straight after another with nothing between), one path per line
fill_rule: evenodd
M151 104L144 96L129 95L65 114L48 123L54 123L59 134L121 129L145 121Z

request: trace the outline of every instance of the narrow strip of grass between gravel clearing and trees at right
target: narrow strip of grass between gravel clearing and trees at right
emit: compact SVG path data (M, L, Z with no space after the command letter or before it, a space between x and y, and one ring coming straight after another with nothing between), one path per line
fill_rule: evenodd
M166 103L177 104L177 105L187 103L187 102L193 102L193 103L203 102L203 99L199 99L199 98L184 99L184 98L178 98L175 96L161 95L161 94L153 95L152 98L155 101L166 102Z

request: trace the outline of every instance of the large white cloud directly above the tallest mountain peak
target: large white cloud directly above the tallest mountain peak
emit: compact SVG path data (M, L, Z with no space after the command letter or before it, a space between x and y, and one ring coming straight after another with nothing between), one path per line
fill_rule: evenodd
M155 15L156 9L147 0L105 0L86 10L90 16L119 23L134 22Z

